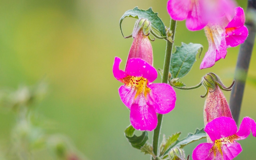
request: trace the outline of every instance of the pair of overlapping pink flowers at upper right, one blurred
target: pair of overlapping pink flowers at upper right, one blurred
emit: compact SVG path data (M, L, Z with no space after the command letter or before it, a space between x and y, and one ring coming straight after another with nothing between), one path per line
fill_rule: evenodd
M186 19L189 30L205 30L209 49L200 69L214 66L227 55L228 47L242 44L248 36L245 15L232 0L169 0L167 10L175 20Z

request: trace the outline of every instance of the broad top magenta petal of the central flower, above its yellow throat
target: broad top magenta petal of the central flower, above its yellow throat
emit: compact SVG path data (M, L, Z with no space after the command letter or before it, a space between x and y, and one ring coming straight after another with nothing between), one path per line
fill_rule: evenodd
M157 78L156 69L140 58L129 59L126 73L130 76L146 78L148 83Z

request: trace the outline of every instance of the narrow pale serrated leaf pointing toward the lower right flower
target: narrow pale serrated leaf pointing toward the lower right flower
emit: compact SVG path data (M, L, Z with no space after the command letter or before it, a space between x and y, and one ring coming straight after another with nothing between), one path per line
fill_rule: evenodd
M201 140L202 138L206 138L206 133L204 131L204 128L202 128L201 130L196 129L196 132L194 134L193 133L189 133L188 136L186 138L184 138L183 140L176 141L176 143L173 146L171 146L170 149L178 147L178 146L180 146L179 148L183 148L187 144L195 142L195 141L198 141L198 140ZM170 149L168 149L164 153L164 155L168 154Z

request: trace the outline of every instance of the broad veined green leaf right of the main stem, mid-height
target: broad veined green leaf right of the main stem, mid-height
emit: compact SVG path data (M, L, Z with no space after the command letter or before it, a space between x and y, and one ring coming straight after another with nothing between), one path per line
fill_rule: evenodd
M172 54L170 63L170 73L173 78L182 78L188 74L192 66L196 62L198 50L202 52L203 46L200 44L185 44L182 42L181 47L176 46L176 51Z

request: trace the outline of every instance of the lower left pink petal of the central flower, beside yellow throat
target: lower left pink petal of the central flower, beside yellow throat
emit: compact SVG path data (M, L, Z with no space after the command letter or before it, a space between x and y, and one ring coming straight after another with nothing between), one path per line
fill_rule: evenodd
M131 109L131 106L134 102L135 95L137 93L136 90L134 90L132 87L127 87L123 85L118 89L118 91L124 105L126 105L126 107Z

